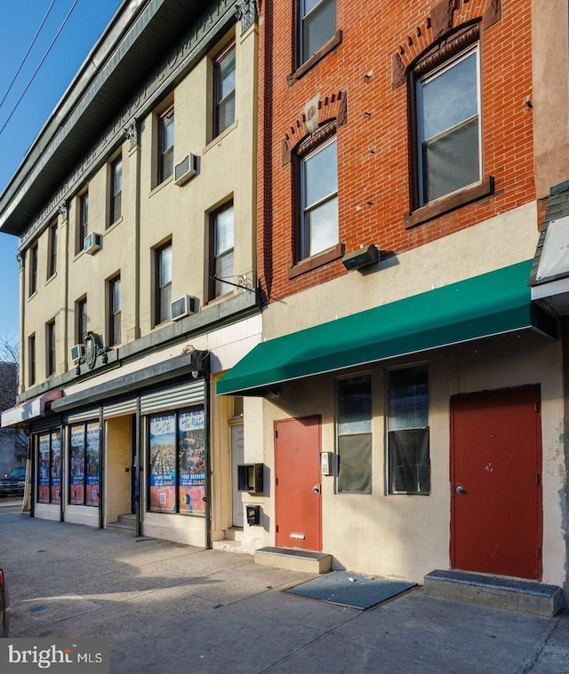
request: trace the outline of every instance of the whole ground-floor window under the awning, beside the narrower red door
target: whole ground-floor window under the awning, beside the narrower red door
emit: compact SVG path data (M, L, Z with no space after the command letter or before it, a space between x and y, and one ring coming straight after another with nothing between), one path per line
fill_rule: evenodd
M338 493L372 493L372 377L337 381Z

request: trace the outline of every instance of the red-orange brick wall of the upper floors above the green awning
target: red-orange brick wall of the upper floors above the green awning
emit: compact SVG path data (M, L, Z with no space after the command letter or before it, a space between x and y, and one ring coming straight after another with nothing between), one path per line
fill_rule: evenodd
M491 0L448 0L453 27L482 18ZM397 254L533 201L531 0L502 0L501 19L482 30L483 174L494 194L406 229L411 147L406 84L392 86L392 59L405 66L433 44L434 0L354 3L338 0L341 45L289 85L293 70L293 0L260 3L259 272L271 300L347 274L340 260L289 280L293 264L293 165L282 143L309 99L348 91L339 127L340 240L345 250L375 243ZM491 22L492 23L492 22ZM367 73L371 77L365 78ZM299 127L296 127L297 130ZM263 151L265 148L265 154ZM489 242L492 245L492 242Z

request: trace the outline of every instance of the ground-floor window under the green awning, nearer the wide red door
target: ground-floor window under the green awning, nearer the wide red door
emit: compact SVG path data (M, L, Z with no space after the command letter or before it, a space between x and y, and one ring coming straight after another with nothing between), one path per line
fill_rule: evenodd
M388 493L428 496L429 375L426 365L388 373Z

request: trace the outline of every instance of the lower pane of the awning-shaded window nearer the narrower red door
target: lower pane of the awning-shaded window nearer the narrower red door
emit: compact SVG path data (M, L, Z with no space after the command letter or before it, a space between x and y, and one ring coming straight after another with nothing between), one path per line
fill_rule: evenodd
M372 493L372 434L342 435L338 438L338 491Z

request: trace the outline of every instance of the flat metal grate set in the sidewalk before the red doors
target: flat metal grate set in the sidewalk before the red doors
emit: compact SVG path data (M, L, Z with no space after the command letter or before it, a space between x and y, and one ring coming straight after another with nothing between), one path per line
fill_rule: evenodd
M411 590L414 586L415 583L368 578L365 575L349 574L347 571L333 571L291 588L287 592L344 607L365 609L376 607Z

